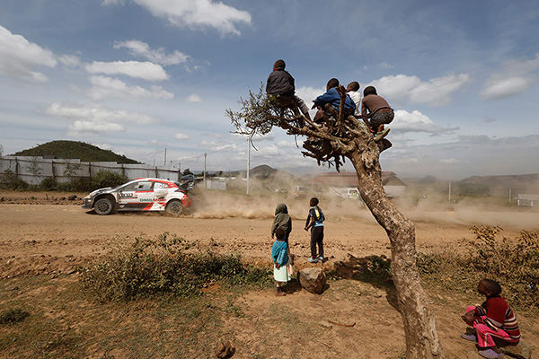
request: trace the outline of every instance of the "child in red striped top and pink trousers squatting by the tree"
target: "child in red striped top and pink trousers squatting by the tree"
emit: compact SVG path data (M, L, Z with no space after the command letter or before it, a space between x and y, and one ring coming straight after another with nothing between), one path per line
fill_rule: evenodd
M479 355L485 358L501 358L503 354L496 346L494 338L508 343L517 344L520 340L517 318L499 293L501 286L490 279L482 279L477 285L477 291L485 295L481 305L470 305L462 316L469 326L475 329L475 334L463 333L461 337L477 342L480 347Z

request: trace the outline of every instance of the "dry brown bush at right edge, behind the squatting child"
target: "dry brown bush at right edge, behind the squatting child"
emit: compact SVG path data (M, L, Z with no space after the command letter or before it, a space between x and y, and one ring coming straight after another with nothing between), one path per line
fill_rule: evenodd
M447 251L420 254L422 276L452 289L475 288L484 277L494 279L503 288L503 296L512 305L535 308L539 305L539 233L521 231L514 240L498 238L501 227L473 226L474 240L465 255Z

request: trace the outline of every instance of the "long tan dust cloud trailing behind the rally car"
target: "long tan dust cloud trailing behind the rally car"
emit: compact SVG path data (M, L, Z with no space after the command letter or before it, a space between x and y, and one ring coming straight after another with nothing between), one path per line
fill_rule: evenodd
M309 210L309 198L296 198L289 193L253 191L231 193L220 190L197 188L192 192L193 218L247 218L272 220L275 208L285 203L293 220L305 220ZM360 199L344 199L329 192L317 196L320 207L330 222L357 220L358 223L376 223L374 216ZM444 199L412 200L410 197L393 199L393 204L412 222L448 223L456 225L499 225L504 229L537 231L539 213L534 208L515 206L477 206L461 201L457 204Z

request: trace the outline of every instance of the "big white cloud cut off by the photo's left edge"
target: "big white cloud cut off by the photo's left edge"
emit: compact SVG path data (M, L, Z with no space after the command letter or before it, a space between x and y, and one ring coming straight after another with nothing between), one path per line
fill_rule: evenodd
M57 66L57 59L48 49L41 48L0 26L0 74L33 83L44 83L47 76L32 70L39 66Z

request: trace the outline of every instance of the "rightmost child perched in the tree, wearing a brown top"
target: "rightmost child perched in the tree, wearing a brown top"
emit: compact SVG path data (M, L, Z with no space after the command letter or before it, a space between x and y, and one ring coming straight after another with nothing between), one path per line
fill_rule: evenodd
M382 96L378 96L375 86L367 86L363 90L361 117L375 136L375 141L380 141L389 133L389 128L384 129L384 125L390 124L394 116L393 109Z

